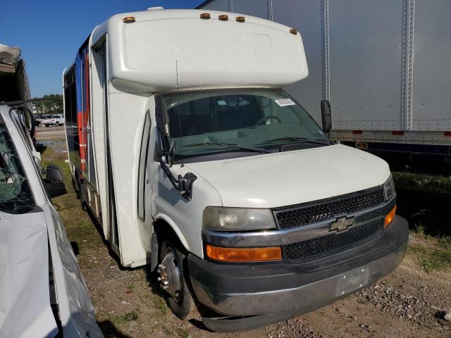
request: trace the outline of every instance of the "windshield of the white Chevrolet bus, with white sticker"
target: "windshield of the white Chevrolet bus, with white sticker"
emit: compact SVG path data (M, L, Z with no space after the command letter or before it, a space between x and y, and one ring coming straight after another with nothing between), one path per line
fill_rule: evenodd
M314 119L282 89L212 89L161 97L175 161L330 145Z

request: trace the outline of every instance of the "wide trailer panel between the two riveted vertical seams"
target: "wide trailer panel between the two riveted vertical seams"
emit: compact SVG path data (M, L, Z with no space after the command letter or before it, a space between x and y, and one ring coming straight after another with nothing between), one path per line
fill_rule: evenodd
M336 130L400 130L402 1L329 2Z

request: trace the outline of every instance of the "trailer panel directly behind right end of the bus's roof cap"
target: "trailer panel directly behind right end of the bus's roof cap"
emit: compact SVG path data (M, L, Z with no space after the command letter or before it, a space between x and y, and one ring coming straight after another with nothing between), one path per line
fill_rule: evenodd
M261 1L264 2L264 1ZM273 20L293 27L302 35L309 76L285 87L299 104L321 121L321 1L273 1Z

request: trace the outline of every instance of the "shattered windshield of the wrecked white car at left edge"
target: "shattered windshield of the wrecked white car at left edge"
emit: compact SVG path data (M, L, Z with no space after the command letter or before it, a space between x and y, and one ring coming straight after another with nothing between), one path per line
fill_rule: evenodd
M27 213L35 202L6 125L0 118L0 211Z

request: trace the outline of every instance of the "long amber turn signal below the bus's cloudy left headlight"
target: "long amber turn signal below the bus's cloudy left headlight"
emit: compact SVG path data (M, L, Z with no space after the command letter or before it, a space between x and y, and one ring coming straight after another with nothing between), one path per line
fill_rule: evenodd
M282 259L280 246L268 248L221 248L207 244L206 256L221 262L262 262Z

